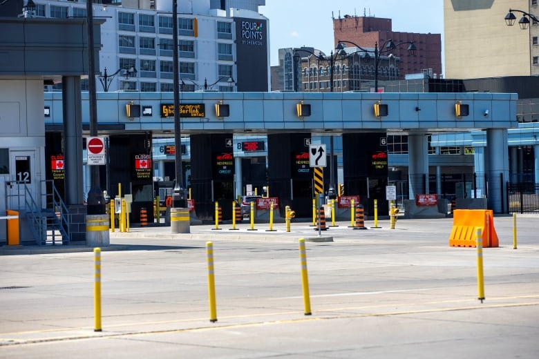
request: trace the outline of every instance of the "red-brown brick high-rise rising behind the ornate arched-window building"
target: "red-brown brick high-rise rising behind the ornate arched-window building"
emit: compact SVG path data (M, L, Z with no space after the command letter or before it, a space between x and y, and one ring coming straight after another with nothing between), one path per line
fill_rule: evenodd
M393 31L391 19L371 16L344 15L333 19L334 45L340 41L352 41L362 48L384 51L384 43L413 41L417 50L415 55L408 53L408 46L397 46L393 55L400 59L399 79L405 75L425 72L433 77L442 75L442 37L440 34L419 34L414 32ZM348 43L347 46L353 46ZM384 54L382 54L384 55ZM389 53L386 52L385 56Z

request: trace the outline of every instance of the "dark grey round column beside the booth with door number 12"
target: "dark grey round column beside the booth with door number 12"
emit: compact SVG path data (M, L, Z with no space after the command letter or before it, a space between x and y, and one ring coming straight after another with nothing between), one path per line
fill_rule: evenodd
M80 77L62 77L66 204L83 204L82 100Z

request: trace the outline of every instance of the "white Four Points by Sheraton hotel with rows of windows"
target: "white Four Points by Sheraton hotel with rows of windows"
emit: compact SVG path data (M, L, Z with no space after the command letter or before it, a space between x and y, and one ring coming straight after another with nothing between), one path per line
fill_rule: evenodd
M84 1L34 2L37 17L87 17ZM104 21L97 90L172 91L173 1L93 2L94 19ZM258 12L263 5L265 0L178 1L182 91L269 90L268 21Z

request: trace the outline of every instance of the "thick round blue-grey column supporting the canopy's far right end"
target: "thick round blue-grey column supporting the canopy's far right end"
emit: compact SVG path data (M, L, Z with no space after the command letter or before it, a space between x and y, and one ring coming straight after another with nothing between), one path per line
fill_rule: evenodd
M509 151L507 130L486 130L486 179L489 181L489 209L494 213L506 213L507 188L509 180Z

